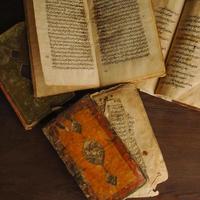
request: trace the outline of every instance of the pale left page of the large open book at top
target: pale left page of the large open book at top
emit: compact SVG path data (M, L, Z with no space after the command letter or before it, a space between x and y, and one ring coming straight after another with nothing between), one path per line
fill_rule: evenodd
M34 0L42 70L47 85L99 86L83 0Z

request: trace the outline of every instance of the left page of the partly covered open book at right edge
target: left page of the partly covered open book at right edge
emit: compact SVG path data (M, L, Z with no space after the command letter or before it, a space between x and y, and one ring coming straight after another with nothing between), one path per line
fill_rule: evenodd
M164 59L166 59L171 42L184 7L185 0L152 0L156 17L160 43ZM154 94L158 78L139 83L138 88Z

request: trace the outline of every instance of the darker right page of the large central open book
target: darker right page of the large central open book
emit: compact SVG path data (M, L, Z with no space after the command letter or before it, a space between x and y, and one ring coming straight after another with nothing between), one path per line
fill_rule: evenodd
M165 74L151 0L88 1L101 85Z

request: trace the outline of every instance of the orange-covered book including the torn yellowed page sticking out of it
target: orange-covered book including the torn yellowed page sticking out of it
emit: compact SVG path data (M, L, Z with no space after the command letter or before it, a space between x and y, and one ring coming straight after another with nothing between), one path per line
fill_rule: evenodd
M89 199L156 196L168 178L132 84L84 97L43 131Z

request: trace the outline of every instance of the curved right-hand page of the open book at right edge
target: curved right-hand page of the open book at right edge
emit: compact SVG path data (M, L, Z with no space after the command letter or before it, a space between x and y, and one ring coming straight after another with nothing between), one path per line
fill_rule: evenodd
M187 0L167 59L167 76L161 79L157 89L158 94L166 95L176 101L184 99L184 103L187 103L187 99L196 99L198 95L196 89L200 85L199 35L200 1ZM191 100L188 103L195 104Z

